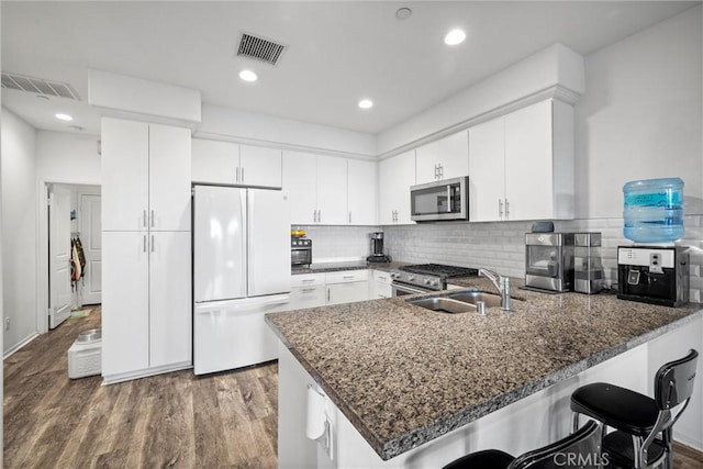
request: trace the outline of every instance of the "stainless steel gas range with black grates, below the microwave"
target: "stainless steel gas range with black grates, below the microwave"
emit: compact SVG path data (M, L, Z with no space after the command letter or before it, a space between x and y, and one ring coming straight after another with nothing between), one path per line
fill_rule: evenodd
M478 277L478 269L445 266L440 264L417 264L391 270L393 297L427 293L446 290L447 279L456 277Z

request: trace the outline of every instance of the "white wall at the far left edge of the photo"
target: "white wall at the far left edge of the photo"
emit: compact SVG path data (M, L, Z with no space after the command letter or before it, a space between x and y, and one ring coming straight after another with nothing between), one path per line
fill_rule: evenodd
M3 353L36 335L36 132L2 108Z

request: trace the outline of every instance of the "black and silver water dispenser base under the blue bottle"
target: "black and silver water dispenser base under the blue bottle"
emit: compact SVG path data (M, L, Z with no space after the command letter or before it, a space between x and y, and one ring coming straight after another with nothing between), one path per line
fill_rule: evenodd
M620 246L617 298L681 306L689 302L689 253L680 246Z

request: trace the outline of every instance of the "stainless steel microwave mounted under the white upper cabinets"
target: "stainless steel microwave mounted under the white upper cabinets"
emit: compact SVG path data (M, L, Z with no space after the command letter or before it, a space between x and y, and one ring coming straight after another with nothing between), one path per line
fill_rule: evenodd
M410 214L416 222L469 220L469 177L412 186Z

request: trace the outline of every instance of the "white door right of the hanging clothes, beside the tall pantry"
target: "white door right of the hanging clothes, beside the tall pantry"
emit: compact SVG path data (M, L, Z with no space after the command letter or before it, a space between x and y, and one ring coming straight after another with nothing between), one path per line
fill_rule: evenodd
M80 242L86 256L86 271L81 282L82 304L99 304L102 302L102 236L100 227L101 200L100 194L81 193L80 208Z

